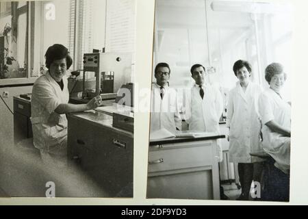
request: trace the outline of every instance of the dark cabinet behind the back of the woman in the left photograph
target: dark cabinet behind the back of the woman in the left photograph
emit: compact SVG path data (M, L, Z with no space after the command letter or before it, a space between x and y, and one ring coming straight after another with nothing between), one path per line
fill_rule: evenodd
M14 143L32 138L31 101L14 96Z

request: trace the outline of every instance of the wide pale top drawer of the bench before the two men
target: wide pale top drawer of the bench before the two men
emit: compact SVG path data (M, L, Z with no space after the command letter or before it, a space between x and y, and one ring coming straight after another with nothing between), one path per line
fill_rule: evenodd
M201 166L212 166L216 162L216 144L168 147L149 152L149 172L180 170Z

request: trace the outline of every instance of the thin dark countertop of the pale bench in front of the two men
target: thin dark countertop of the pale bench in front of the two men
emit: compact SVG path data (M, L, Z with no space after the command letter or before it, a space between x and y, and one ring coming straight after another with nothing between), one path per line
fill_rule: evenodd
M164 139L157 139L157 140L150 140L150 146L157 145L157 144L173 144L173 143L181 143L181 142L197 142L202 140L214 140L218 138L225 138L224 135L213 134L209 136L199 136L194 138L164 138Z

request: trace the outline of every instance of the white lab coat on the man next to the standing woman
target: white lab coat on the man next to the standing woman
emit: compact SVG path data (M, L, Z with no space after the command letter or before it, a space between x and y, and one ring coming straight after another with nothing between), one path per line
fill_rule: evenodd
M200 87L194 85L188 95L185 95L184 111L185 121L192 132L220 133L219 119L222 115L223 103L220 91L209 84L203 85L204 96L200 96ZM217 140L217 155L222 161L222 147L220 139Z

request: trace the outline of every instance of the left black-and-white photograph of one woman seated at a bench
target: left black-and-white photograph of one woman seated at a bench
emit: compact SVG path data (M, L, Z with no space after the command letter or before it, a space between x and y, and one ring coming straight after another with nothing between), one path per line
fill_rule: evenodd
M135 0L0 2L0 197L133 197Z

